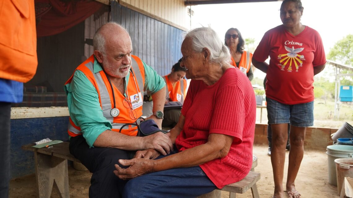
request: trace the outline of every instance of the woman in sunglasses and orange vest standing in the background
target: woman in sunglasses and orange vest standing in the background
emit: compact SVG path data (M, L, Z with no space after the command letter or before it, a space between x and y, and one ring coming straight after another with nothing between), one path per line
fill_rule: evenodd
M252 54L244 50L245 42L243 37L241 37L240 31L233 27L227 30L224 43L231 51L231 65L238 67L251 81L254 78L251 69Z

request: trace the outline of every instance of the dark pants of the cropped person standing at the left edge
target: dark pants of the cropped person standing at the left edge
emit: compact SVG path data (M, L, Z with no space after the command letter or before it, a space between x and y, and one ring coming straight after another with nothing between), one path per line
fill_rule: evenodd
M8 197L10 182L11 103L0 102L0 198Z

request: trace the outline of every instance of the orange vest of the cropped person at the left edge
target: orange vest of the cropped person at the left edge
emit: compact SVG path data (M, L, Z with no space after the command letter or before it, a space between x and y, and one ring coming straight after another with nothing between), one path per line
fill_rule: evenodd
M38 64L34 0L1 0L0 24L0 78L28 82Z

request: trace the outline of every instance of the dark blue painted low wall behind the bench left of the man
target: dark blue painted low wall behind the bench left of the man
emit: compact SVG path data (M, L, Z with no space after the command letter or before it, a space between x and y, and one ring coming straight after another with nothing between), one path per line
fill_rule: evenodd
M11 119L11 177L34 173L34 153L21 146L50 138L68 141L68 117Z

